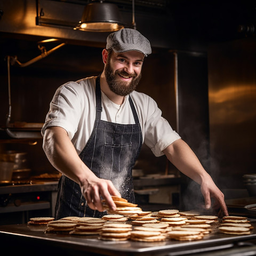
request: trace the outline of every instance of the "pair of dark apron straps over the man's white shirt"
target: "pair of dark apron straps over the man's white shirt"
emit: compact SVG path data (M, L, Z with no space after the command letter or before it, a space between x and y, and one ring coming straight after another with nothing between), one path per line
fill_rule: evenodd
M100 75L97 76L96 78L96 85L95 85L95 97L96 97L96 120L100 120L101 119L101 112L102 112L102 107L101 107L101 90L100 90ZM137 114L137 111L134 107L134 103L132 101L131 96L129 95L129 102L130 102L130 107L132 109L132 114L133 114L133 118L135 121L135 124L139 124L139 117Z

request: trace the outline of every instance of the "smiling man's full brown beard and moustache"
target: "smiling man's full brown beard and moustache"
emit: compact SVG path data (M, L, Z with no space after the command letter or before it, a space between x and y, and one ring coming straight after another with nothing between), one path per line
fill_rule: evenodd
M104 74L105 74L109 89L115 94L120 96L126 96L131 92L133 92L136 89L137 85L139 84L140 78L141 78L141 73L137 76L135 73L129 74L124 70L116 70L114 72L113 68L110 65L109 60L107 60L106 62ZM132 80L129 82L119 81L117 79L118 75L130 76L132 77Z

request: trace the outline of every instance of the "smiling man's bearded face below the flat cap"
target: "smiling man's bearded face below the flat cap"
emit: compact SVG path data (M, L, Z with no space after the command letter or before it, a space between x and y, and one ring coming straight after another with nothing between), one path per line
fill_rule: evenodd
M108 55L104 74L111 91L126 96L134 91L140 82L144 54L138 51Z

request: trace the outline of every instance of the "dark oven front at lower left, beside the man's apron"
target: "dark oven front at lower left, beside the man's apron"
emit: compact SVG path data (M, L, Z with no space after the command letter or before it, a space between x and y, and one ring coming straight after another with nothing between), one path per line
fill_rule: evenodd
M58 181L17 180L0 186L0 225L54 216Z

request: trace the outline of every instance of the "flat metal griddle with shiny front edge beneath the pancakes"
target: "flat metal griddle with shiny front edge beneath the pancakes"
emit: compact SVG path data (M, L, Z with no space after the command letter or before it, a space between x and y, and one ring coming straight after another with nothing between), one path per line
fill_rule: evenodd
M217 228L213 228L212 233L205 235L198 241L165 241L165 242L135 242L135 241L101 241L97 235L79 236L68 234L44 233L45 226L32 226L27 224L0 226L0 241L10 244L19 244L29 250L28 255L38 253L44 248L47 251L55 248L61 255L182 255L176 252L184 251L211 251L216 249L227 249L243 241L256 239L256 219L249 219L254 226L251 235L226 235L218 233ZM19 248L19 247L18 247ZM38 251L38 248L40 250ZM36 251L33 251L36 250ZM68 252L70 251L70 254ZM20 252L20 251L19 251ZM49 251L50 252L50 251ZM76 254L74 254L76 253ZM94 254L95 253L95 254ZM43 255L43 254L42 254ZM53 255L53 254L52 254ZM60 255L60 254L58 254Z

